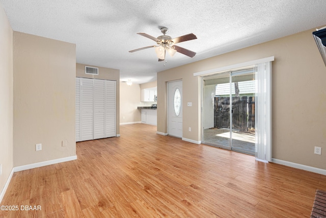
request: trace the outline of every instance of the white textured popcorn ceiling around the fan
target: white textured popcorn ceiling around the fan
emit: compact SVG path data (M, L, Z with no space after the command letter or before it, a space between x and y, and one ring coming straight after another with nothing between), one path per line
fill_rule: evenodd
M156 72L326 25L324 0L0 0L12 29L76 44L76 62L120 69L120 80L156 80ZM158 62L157 37L194 33L177 53ZM164 66L165 65L165 66Z

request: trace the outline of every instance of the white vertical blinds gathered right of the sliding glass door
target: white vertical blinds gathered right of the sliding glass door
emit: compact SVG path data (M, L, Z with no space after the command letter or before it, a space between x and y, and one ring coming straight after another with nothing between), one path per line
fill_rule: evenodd
M255 156L271 161L271 62L255 65Z

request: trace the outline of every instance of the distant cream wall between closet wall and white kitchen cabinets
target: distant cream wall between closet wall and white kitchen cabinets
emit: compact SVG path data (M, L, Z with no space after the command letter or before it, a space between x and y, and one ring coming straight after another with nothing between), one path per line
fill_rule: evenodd
M120 124L141 122L141 88L139 84L128 86L120 83Z

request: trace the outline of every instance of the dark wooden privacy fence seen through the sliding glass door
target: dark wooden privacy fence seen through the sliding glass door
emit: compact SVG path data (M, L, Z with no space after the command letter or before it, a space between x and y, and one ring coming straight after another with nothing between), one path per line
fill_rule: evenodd
M230 128L230 97L214 98L214 128ZM255 129L255 97L232 97L232 129Z

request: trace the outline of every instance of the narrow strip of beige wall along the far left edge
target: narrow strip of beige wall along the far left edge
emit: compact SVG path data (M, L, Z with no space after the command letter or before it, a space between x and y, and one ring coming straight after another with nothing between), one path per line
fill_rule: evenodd
M13 31L0 3L0 193L13 168ZM0 199L1 201L1 199Z

